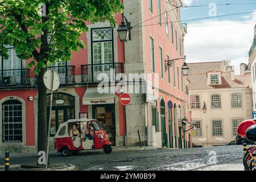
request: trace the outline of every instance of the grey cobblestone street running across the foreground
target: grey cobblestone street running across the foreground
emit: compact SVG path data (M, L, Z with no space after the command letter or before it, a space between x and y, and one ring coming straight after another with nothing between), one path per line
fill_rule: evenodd
M63 157L51 154L51 163L74 164L76 170L243 171L242 146L220 146L179 150L146 150ZM216 160L215 160L216 159ZM36 156L10 157L11 164L36 162ZM1 158L0 165L4 161Z

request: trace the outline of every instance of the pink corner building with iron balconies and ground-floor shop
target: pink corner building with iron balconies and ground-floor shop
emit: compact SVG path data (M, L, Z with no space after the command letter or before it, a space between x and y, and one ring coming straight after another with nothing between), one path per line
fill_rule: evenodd
M180 6L181 1L170 1ZM51 136L60 123L72 118L96 118L102 121L114 146L125 144L125 107L119 103L118 93L98 93L100 73L145 73L152 76L151 92L130 93L131 104L126 106L129 146L142 143L158 147L191 147L187 118L188 80L183 76L183 60L170 69L165 61L184 57L185 28L180 10L158 0L123 0L124 15L133 26L131 40L123 43L117 33L122 15L115 16L117 27L109 23L89 24L89 32L81 35L86 49L73 52L71 61L51 65L59 74L61 86L53 96ZM171 10L174 9L174 10ZM159 15L159 16L158 16ZM150 20L149 20L150 19ZM147 21L146 21L147 20ZM146 21L146 22L144 22ZM144 22L144 23L141 23ZM137 26L135 26L137 24ZM20 60L15 49L9 47L9 60L0 64L0 152L31 152L36 149L38 90L28 60ZM158 78L159 76L159 78ZM109 77L118 85L118 77ZM155 79L156 78L156 79ZM128 85L136 85L136 81ZM139 84L143 86L143 84ZM172 107L168 109L168 102ZM52 143L53 147L53 143Z

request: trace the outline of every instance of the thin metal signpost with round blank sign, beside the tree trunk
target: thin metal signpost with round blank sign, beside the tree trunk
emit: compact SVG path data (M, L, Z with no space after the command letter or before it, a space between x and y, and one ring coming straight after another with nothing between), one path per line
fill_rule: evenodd
M60 86L60 78L54 70L48 70L44 73L44 85L48 90L51 90L51 102L49 107L49 124L48 124L48 142L47 142L47 152L46 152L46 169L48 167L48 155L49 155L49 135L51 130L51 110L52 110L52 97L53 91L57 90Z

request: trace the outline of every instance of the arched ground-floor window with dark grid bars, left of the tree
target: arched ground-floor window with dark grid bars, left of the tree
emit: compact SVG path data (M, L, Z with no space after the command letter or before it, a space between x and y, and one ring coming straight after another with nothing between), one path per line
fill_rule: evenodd
M22 103L8 100L2 104L3 142L22 142Z

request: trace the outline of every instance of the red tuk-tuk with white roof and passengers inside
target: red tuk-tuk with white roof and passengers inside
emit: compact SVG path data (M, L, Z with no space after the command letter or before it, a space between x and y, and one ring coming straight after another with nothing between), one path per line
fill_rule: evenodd
M72 135L73 126L76 126L80 134ZM106 154L112 152L112 143L107 139L104 127L96 119L71 119L62 123L57 130L54 140L55 150L63 156L76 155L82 150L101 148Z

